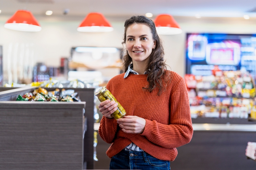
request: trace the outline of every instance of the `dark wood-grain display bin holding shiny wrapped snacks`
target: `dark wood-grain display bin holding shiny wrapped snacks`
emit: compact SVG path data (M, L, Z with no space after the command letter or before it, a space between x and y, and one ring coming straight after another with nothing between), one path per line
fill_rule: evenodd
M0 169L94 169L94 88L65 88L82 102L16 101L35 88L0 87Z

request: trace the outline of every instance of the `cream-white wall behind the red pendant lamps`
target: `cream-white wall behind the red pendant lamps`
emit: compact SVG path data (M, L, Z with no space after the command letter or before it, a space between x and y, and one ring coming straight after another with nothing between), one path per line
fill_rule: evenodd
M127 17L128 18L128 17ZM96 46L122 48L125 19L110 18L114 31L109 33L81 33L76 28L83 18L49 20L38 18L42 31L20 32L3 27L8 17L0 18L0 45L3 46L4 78L8 75L8 49L18 46L18 53L23 46L29 48L29 62L43 62L47 66L58 67L61 57L69 57L71 47ZM108 19L108 18L107 18ZM175 17L183 30L179 35L160 35L166 54L166 63L171 70L185 74L185 39L186 33L239 33L256 34L256 19L243 18L201 18ZM15 46L16 45L16 46ZM26 49L25 49L26 50ZM26 54L25 54L26 55ZM19 54L18 54L19 57ZM31 58L32 57L32 58ZM24 61L25 62L25 61Z

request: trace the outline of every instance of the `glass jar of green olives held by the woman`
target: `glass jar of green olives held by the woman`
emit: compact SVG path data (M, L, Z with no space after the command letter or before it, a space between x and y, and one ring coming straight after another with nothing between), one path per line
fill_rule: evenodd
M100 102L103 102L107 99L109 99L110 101L115 101L116 103L118 103L117 105L117 110L112 113L111 115L117 120L119 118L123 118L126 114L125 109L120 105L120 103L116 100L116 98L111 94L111 92L106 89L106 87L102 87L100 88L96 93L95 96L98 97L98 99L100 100Z

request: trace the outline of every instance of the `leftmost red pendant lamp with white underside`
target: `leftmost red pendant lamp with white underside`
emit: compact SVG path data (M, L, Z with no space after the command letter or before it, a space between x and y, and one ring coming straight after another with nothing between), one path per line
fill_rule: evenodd
M4 28L16 31L38 32L41 31L40 24L30 11L18 10L4 24Z

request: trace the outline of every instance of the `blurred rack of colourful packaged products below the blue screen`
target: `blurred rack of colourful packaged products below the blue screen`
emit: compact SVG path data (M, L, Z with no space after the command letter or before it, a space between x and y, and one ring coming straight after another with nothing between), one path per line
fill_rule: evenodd
M248 72L185 76L192 118L248 118L255 106L255 84Z

